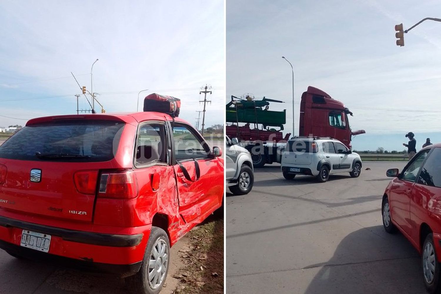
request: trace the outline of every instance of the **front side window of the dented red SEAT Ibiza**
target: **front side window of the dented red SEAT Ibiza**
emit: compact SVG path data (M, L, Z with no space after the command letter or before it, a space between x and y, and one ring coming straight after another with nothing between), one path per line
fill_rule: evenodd
M173 138L175 141L176 160L190 158L208 158L210 149L196 131L184 124L175 123L173 126Z

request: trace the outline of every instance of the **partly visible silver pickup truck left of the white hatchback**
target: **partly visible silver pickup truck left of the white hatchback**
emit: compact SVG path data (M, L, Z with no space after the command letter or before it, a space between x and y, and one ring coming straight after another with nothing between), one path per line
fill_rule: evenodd
M247 149L240 147L236 138L226 136L226 169L227 187L232 194L250 193L254 183L253 160Z

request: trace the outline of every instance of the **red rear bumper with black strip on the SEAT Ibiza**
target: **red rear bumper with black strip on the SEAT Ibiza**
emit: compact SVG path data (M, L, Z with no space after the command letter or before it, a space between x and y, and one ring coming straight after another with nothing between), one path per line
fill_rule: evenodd
M51 235L49 253L20 246L22 231L29 230ZM69 230L25 222L0 216L0 248L30 259L43 258L61 265L90 268L94 271L131 274L137 271L144 257L151 225L114 228L114 234ZM123 232L124 234L118 234ZM64 261L64 258L71 261Z

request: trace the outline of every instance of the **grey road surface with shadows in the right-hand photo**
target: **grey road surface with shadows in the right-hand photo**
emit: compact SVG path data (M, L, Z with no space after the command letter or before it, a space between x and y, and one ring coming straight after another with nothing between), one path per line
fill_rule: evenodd
M385 171L404 164L365 162L359 178L326 183L255 169L250 194L227 194L227 293L426 293L416 249L382 227Z

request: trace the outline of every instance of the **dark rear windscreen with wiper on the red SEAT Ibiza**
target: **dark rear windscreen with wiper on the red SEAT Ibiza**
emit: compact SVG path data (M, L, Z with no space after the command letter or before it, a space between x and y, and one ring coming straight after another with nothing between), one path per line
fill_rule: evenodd
M124 123L68 120L22 128L0 146L0 158L97 162L114 158Z

